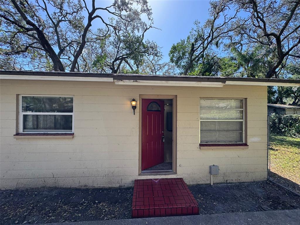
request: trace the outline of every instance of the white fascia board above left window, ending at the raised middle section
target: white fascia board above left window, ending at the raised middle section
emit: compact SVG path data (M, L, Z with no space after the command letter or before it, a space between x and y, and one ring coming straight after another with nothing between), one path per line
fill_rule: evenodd
M16 80L67 80L67 81L101 81L113 82L110 77L76 77L76 76L25 76L25 75L0 75L0 79Z

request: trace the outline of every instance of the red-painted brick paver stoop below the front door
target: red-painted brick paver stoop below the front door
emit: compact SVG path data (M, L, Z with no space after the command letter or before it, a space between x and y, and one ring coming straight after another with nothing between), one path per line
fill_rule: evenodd
M199 214L182 178L135 180L131 208L133 218Z

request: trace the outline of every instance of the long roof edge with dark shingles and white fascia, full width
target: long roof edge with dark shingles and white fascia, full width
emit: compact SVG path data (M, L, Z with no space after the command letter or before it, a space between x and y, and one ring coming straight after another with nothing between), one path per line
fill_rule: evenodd
M79 73L0 70L0 79L115 82L118 85L223 87L259 85L300 87L300 80L212 76L163 76L119 73Z

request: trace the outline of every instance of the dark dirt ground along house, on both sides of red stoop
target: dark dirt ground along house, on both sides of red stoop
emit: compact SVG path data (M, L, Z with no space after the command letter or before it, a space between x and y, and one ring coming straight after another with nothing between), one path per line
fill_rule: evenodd
M271 182L189 186L200 214L299 209L300 196ZM1 191L0 223L131 218L133 188Z

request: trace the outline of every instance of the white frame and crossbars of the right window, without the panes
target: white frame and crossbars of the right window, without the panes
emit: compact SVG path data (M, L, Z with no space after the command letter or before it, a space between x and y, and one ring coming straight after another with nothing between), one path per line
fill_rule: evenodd
M220 99L220 100L225 100L225 99L229 99L229 100L242 100L243 101L243 108L242 109L201 109L201 103L200 103L200 100L201 99ZM199 100L199 143L200 144L244 144L245 143L245 140L246 140L246 137L245 137L245 98L200 98ZM201 113L201 110L242 110L243 111L243 119L200 119L200 113ZM243 141L242 142L203 142L201 143L201 139L200 139L200 136L201 136L201 125L200 125L200 122L201 121L220 121L220 122L235 122L235 121L238 121L238 122L243 122Z

